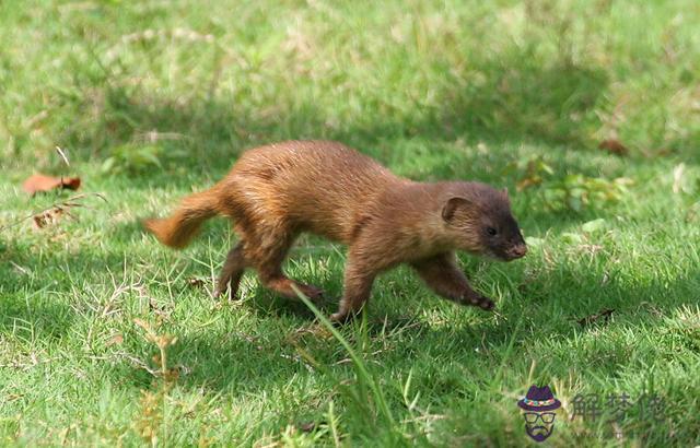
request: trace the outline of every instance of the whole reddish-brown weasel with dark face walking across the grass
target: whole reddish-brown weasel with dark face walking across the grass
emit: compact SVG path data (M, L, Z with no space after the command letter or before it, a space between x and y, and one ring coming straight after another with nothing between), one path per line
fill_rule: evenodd
M417 182L392 174L341 143L288 141L245 152L211 189L183 200L172 216L144 225L164 245L182 248L217 214L233 221L240 241L226 256L215 296L236 294L246 268L285 297L295 285L310 298L316 286L284 275L282 261L301 232L348 246L341 321L370 297L375 276L409 263L439 295L482 309L493 302L469 286L455 249L510 261L527 247L505 191L479 182Z

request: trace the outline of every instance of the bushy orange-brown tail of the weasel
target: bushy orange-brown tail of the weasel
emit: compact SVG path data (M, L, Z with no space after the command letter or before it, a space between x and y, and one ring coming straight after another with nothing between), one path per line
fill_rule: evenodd
M215 205L217 193L213 190L194 193L183 199L168 217L145 220L143 225L165 246L182 249L205 221L218 214Z

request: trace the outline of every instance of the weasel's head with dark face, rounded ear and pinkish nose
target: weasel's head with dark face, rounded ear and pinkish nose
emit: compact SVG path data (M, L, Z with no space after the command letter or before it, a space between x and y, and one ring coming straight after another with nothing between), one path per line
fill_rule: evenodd
M478 182L460 182L451 190L442 219L446 237L457 249L504 261L527 254L506 190Z

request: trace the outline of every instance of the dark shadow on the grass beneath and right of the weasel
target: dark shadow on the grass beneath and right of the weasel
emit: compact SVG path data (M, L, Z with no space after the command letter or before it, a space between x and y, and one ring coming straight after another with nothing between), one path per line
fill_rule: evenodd
M593 273L578 272L576 278L590 285L596 285L600 280ZM398 313L395 309L387 310L389 305L395 304L375 300L370 305L365 330L350 325L342 331L355 346L364 346L361 351L368 362L377 366L373 372L378 375L385 369L395 373L413 370L417 384L422 384L433 392L427 397L431 400L442 393L454 393L456 387L463 387L463 377L457 372L471 372L475 387L485 386L485 381L488 386L488 378L492 378L493 372L485 376L483 369L503 368L505 361L509 366L513 363L524 368L537 361L540 369L548 370L550 375L565 376L569 369L575 368L581 372L594 369L596 375L616 377L621 368L630 367L630 363L642 359L653 364L665 349L638 353L635 361L630 361L629 347L620 345L617 337L623 332L615 330L620 327L646 326L653 329L662 326L684 307L697 305L693 292L700 286L698 278L692 275L673 283L660 280L637 286L614 279L605 286L592 286L597 291L597 296L592 298L588 295L591 288L581 290L575 283L567 283L568 287L563 282L560 284L561 291L557 295L550 294L550 286L544 278L529 284L528 291L522 293L521 297L501 305L500 318L454 305L455 309L448 313L454 319L452 323L431 323L418 317L422 307L431 306L430 300L441 300L433 295L425 302L406 303ZM303 305L287 303L278 307L275 302L265 295L258 297L256 292L255 297L242 304L248 311L253 309L259 322L255 335L247 335L231 327L224 331L201 331L180 338L172 352L173 362L186 368L178 385L235 393L259 393L270 387L289 385L293 378L303 382L303 378L315 378L320 373L305 361L303 353L337 374L336 378L324 379L330 384L350 375L347 353L337 341L324 335L319 325L314 323L313 315ZM272 308L268 308L270 305ZM584 325L579 322L605 308L614 310L609 320L600 318ZM548 341L576 346L583 334L599 334L607 329L615 334L611 333L611 339L600 339L597 349L575 353L565 350L559 353L539 352L548 346ZM681 339L675 342L676 346L682 344L684 350L696 353L700 350L690 332L679 331L670 337ZM511 358L505 359L510 344L513 344L513 352ZM673 357L678 354L669 352L666 355ZM446 364L436 363L435 359L443 359ZM135 380L143 376L140 372L133 372L132 375L136 375ZM467 397L470 392L464 393Z

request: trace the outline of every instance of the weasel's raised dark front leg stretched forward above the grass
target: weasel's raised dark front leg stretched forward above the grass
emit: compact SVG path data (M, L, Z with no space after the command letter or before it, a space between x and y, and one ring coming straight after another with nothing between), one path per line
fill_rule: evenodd
M494 304L490 298L471 288L464 272L457 268L457 258L454 252L440 254L412 262L411 266L438 295L462 305L478 306L486 310L493 309Z

